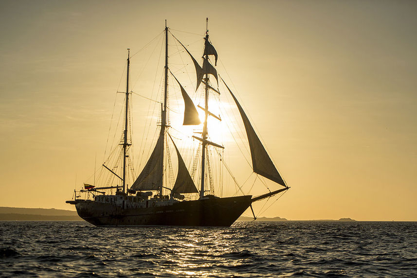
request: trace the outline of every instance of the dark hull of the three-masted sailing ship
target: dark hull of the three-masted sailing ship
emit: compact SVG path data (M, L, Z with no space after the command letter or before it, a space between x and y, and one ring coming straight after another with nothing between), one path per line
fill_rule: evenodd
M67 201L78 215L95 226L230 226L251 205L251 195L207 198L149 208L127 208L91 200Z

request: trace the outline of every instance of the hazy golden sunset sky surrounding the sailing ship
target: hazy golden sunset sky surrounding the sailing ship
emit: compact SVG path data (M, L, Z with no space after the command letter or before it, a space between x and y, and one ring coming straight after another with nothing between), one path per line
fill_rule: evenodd
M101 163L126 49L164 19L195 43L206 17L291 187L261 216L417 221L416 1L2 0L0 206L74 209L76 177Z

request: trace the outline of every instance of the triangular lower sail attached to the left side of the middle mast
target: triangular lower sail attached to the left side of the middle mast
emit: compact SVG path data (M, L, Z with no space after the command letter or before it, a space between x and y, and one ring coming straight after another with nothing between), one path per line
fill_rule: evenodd
M131 186L131 189L138 191L159 190L162 185L163 176L163 134L161 133L150 155L142 173Z

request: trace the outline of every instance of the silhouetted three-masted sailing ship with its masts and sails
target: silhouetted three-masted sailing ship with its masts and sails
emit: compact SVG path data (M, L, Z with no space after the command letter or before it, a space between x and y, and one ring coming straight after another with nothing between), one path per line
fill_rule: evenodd
M129 90L130 51L128 49L126 92L123 92L125 94L124 129L119 142L120 146L118 146L119 150L121 150L121 159L117 160L121 167L110 167L105 163L102 165L121 184L102 187L95 186L95 184L84 184L84 189L79 192L84 192L88 197L81 198L81 195L77 196L77 191L74 190L73 199L66 201L66 203L75 205L78 215L87 222L95 226L230 226L248 208L252 209L255 218L252 208L252 203L255 201L269 198L289 189L255 133L253 125L237 101L236 96L218 75L216 69L218 53L209 39L207 20L204 51L201 57L202 63L199 63L187 48L172 35L165 21L164 86L159 135L142 172L135 177L136 179L131 185L127 183L127 172L129 170L127 164L130 159L128 152L132 144L128 130L130 115L129 98L132 93ZM201 120L193 100L168 67L168 33L179 42L183 51L188 54L194 64L197 77L196 91L201 84L203 86L204 106L198 105L204 112L204 118ZM214 60L214 63L212 60ZM183 125L202 125L202 131L199 132L201 137L192 136L199 141L199 152L197 153L197 156L199 156L199 178L197 182L194 182L174 139L169 133L170 126L167 121L168 75L173 77L173 80L178 83L181 89L184 101ZM209 137L207 124L209 117L221 120L219 116L212 113L209 109L209 95L220 94L218 89L219 82L224 84L226 93L231 95L240 113L246 131L247 142L249 143L253 172L271 180L279 186L279 189L274 191L268 189L269 192L256 197L249 194L222 197L216 196L213 190L207 190L207 183L213 182L209 178L211 172L208 149L224 148L224 146L209 140L211 138ZM200 87L201 90L202 88ZM167 168L164 165L164 161L166 161L164 156L169 156L169 152L164 148L166 148L165 145L168 141L174 145L178 160L178 174L173 186L172 183L171 186L164 183L163 178L164 171ZM195 163L194 168L196 165ZM207 174L207 172L209 173ZM196 183L199 185L199 189ZM115 190L114 194L112 193L113 190ZM194 198L189 196L194 196Z

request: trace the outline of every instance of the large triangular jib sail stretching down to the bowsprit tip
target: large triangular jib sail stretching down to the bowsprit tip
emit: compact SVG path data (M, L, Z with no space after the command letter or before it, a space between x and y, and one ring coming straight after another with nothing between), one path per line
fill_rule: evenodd
M222 79L223 80L223 79ZM224 85L226 83L223 80ZM246 116L245 112L242 109L242 106L237 102L235 95L232 93L230 88L226 85L227 89L229 90L230 94L232 95L237 108L239 109L240 116L242 117L243 124L245 125L246 135L248 136L249 141L249 148L251 149L251 156L252 156L252 166L254 172L260 174L270 180L287 187L284 180L282 179L281 175L276 170L275 165L271 160L271 157L268 155L267 151L265 150L264 146L261 143L261 140L255 133L254 128L252 127L251 122L249 121L248 117Z

